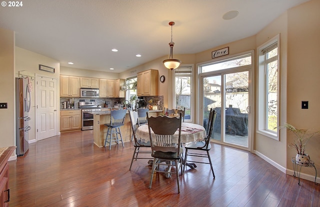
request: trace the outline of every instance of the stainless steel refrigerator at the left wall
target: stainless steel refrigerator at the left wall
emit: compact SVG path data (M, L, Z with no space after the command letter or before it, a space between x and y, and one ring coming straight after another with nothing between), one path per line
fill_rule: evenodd
M31 127L28 124L30 117L31 93L26 78L15 78L15 123L16 123L16 155L21 156L29 149L28 131Z

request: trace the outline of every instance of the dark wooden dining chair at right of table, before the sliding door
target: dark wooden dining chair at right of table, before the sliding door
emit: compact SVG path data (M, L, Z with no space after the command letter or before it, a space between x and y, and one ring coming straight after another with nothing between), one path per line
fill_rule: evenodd
M185 144L183 172L185 169L186 162L209 164L211 167L213 179L215 178L215 175L213 172L213 167L212 167L212 162L211 162L210 155L209 155L209 151L211 150L210 140L211 140L211 134L212 134L213 125L214 125L214 121L215 121L215 116L216 116L216 111L211 109L210 115L209 115L208 130L207 130L206 137L203 141L195 141L195 142ZM202 152L205 151L206 155L203 153L200 153L200 151L202 151ZM199 160L188 160L188 157L208 158L209 162L206 163L206 162L201 162Z

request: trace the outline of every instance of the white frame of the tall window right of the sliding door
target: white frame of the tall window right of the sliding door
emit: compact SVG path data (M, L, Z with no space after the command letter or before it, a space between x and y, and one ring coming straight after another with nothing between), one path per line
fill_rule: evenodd
M280 38L279 34L258 46L256 49L257 52L257 90L256 90L256 120L257 120L257 130L256 133L269 137L271 139L279 141L278 130L271 131L267 129L267 76L265 75L266 70L266 54L263 54L263 51L267 50L270 46L277 44L277 126L279 126L279 118L280 118ZM275 48L275 47L274 47ZM273 48L273 49L274 49ZM271 57L272 58L272 57ZM270 58L270 59L271 59ZM274 59L274 58L273 58Z

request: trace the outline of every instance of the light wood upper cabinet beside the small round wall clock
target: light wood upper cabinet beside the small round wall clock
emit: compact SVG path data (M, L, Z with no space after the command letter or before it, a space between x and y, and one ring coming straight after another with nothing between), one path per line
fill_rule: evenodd
M137 73L137 96L157 96L158 79L158 70L150 69Z

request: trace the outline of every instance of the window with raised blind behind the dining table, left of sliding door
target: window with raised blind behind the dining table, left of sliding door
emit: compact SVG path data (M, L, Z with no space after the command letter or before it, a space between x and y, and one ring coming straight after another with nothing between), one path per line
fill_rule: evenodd
M192 120L192 67L181 66L174 70L173 81L173 108L183 109L185 107L184 121Z

